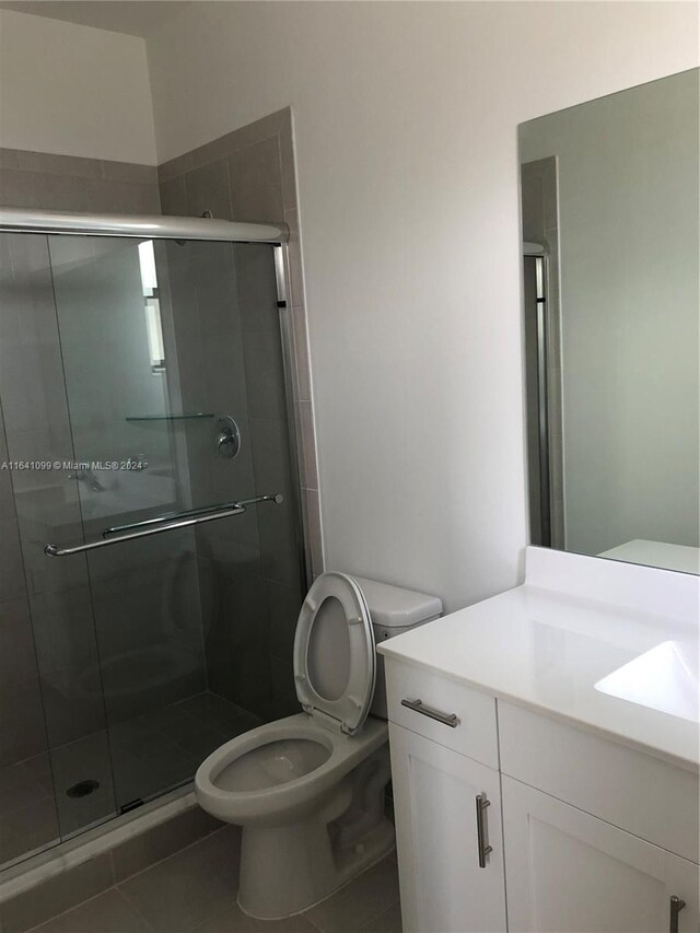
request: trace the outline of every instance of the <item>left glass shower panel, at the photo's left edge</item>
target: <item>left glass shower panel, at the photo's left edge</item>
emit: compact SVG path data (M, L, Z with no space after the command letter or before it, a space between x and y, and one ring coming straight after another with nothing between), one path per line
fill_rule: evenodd
M44 546L83 528L48 242L0 235L3 413L0 863L115 813L84 559ZM92 698L79 685L90 672Z

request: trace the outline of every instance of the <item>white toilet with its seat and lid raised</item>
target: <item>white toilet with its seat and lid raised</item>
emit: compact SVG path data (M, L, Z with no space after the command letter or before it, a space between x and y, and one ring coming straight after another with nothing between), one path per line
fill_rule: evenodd
M304 712L225 743L195 777L200 806L243 827L238 905L246 913L277 919L306 910L392 849L375 641L441 611L434 596L343 573L312 585L294 639Z

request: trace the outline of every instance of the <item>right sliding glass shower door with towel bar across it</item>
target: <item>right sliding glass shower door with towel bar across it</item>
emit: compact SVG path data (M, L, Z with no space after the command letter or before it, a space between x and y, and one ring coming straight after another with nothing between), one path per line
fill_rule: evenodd
M275 678L269 638L272 610L289 629L302 598L273 255L66 236L49 249L84 539L226 514L86 552L98 669L81 689L103 697L124 810L291 707L291 657ZM283 501L225 510L258 495Z

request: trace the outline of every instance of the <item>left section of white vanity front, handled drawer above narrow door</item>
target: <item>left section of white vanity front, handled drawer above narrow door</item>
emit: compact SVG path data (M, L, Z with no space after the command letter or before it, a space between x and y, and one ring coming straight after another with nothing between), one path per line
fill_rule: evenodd
M386 669L404 933L503 933L495 702L429 670Z

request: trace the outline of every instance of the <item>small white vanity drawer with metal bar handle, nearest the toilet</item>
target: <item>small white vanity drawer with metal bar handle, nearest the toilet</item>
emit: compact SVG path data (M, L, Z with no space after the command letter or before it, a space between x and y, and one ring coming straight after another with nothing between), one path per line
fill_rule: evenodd
M498 769L493 697L390 657L386 658L386 695L390 722Z

